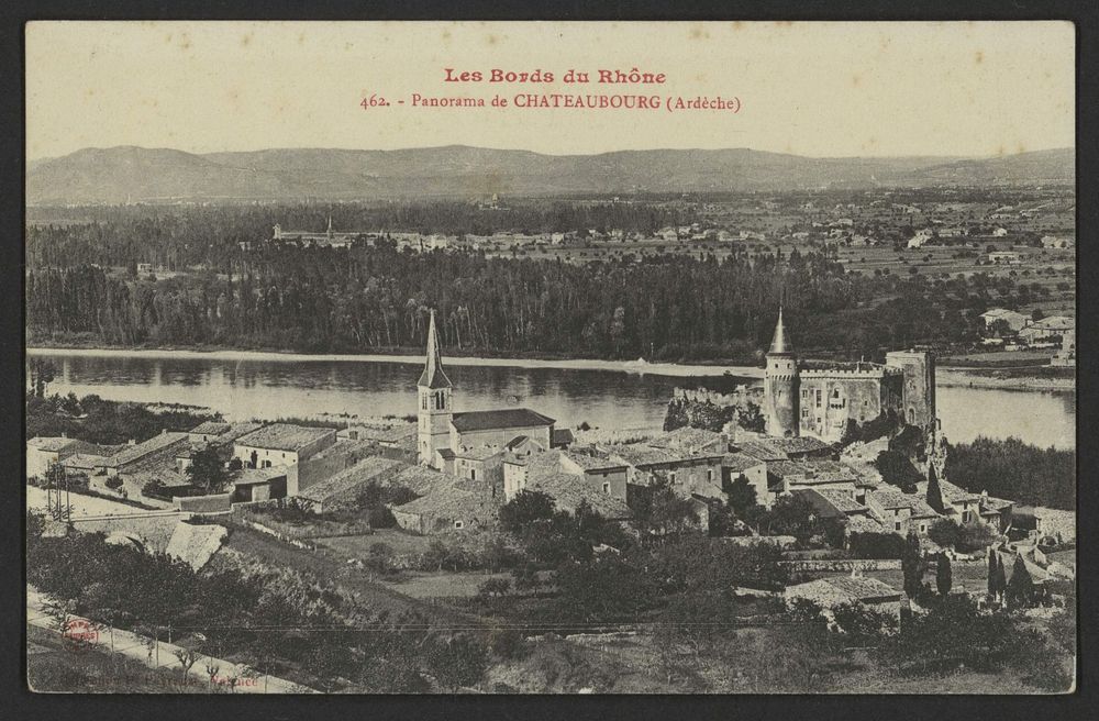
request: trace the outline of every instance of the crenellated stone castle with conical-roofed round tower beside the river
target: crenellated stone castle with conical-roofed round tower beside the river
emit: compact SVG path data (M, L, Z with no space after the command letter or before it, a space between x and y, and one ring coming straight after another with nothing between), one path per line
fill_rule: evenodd
M935 358L921 351L891 351L880 363L800 363L778 309L764 371L768 435L839 442L852 424L881 417L932 430Z

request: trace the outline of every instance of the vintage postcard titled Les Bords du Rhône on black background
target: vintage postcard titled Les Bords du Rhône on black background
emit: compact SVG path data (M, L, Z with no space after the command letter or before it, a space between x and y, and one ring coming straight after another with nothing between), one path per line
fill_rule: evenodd
M26 684L1072 691L1075 43L29 23Z

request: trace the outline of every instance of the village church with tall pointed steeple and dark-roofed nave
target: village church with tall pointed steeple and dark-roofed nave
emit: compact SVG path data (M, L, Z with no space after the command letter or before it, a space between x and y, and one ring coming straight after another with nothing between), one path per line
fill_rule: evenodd
M554 419L526 408L454 412L454 387L443 371L435 311L428 324L428 358L417 382L417 451L420 463L454 473L454 458L477 452L503 452L529 440L548 450Z

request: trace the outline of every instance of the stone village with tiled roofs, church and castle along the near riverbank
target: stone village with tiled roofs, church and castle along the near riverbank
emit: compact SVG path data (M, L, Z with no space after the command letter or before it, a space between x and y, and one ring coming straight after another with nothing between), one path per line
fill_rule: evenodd
M196 573L225 554L335 567L356 587L396 594L397 607L426 600L434 613L492 618L509 615L503 598L517 608L552 598L547 559L576 553L576 540L556 532L546 550L532 537L557 518L603 529L580 541L584 558L684 534L766 548L767 580L725 591L777 599L787 612L808 603L840 633L851 630L844 609L887 626L926 612L931 568L939 594L980 608L1008 603L1009 588L1012 608L1072 602L1075 514L947 477L932 354L803 362L792 339L780 309L762 388L685 393L690 418L724 409L731 420L719 429L687 422L621 439L557 428L528 408L463 410L432 312L414 422L207 421L122 446L33 437L29 492L45 496L46 535L100 532ZM74 512L82 497L100 510ZM506 573L502 558L522 556Z

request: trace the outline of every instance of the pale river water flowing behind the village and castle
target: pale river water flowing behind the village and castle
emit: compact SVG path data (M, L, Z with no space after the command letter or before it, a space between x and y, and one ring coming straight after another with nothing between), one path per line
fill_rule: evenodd
M203 406L230 420L413 414L421 369L419 362L34 353L58 368L51 392ZM525 406L556 419L558 428L584 421L600 428L659 428L671 389L697 382L652 373L522 365L449 364L446 373L455 386L455 410ZM1076 446L1073 392L940 386L937 403L943 432L954 442L1015 436L1043 447Z

